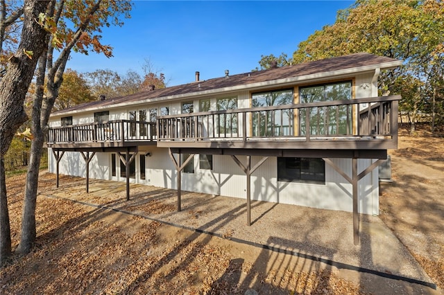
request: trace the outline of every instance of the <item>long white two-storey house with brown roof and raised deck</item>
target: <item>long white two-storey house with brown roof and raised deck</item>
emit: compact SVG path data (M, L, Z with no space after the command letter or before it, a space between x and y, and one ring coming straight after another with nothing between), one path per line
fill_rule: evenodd
M398 147L398 100L368 53L200 80L51 114L49 171L379 213L377 166ZM88 189L88 187L87 187Z

